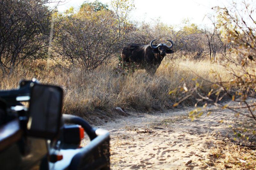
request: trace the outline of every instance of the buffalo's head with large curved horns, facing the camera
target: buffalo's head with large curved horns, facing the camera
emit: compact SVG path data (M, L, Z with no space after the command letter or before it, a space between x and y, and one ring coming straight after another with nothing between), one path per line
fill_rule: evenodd
M171 48L173 47L173 42L172 40L166 40L166 41L169 41L172 43L171 46L167 46L166 44L163 44L163 43L160 43L158 44L157 46L154 46L153 45L153 42L156 41L155 40L152 40L150 42L150 47L153 49L153 53L155 54L160 54L162 57L164 57L166 54L171 54L173 53L174 51L171 50Z

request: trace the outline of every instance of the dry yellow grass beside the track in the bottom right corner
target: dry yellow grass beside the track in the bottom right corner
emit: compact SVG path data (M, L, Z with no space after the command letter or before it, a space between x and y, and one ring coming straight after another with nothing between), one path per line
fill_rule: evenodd
M216 140L207 164L217 169L255 169L255 124L255 120L246 117L234 123L234 140Z

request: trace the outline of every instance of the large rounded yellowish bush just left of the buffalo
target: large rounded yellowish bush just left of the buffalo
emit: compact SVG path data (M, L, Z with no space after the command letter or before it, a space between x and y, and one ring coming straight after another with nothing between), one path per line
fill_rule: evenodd
M113 12L90 3L82 5L79 12L59 14L55 24L53 58L67 61L66 66L80 67L84 72L93 71L109 62L122 47L123 35Z

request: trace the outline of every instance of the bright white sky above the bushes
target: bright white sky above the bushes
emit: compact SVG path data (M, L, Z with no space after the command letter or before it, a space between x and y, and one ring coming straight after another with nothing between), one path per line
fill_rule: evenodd
M58 11L63 12L71 6L78 9L85 0L66 0L58 6ZM103 4L111 0L99 0ZM234 0L240 1L241 0ZM93 0L89 0L93 2ZM137 21L152 22L159 19L167 25L179 25L182 20L189 19L190 23L197 25L211 24L205 17L207 14L215 13L212 7L231 4L232 0L134 0L135 10L131 12L130 18ZM110 6L110 5L109 5Z

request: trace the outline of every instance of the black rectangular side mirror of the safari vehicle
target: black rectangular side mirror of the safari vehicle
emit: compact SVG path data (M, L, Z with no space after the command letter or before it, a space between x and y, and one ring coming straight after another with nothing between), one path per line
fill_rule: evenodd
M58 86L34 84L28 108L28 135L53 139L60 130L63 90Z

